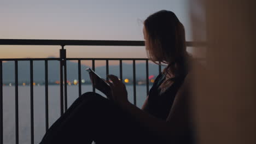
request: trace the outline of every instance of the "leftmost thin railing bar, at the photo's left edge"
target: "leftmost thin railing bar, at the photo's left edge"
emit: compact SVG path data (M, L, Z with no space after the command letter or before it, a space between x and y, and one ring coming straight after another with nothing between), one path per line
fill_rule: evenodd
M3 63L0 61L0 144L3 144Z

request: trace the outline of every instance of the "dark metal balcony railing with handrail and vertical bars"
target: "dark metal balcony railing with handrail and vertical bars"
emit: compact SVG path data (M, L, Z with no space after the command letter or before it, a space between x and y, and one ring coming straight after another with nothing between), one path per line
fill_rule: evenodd
M149 92L149 59L147 58L66 58L65 46L144 46L144 41L117 41L117 40L22 40L22 39L0 39L0 45L59 45L60 58L0 58L0 144L3 144L3 61L14 61L15 64L15 142L19 143L19 83L18 83L18 61L30 62L30 113L31 113L31 143L34 143L34 95L33 95L33 62L44 61L45 69L45 130L49 128L48 109L48 62L60 62L60 113L67 110L67 61L78 62L78 91L82 95L81 86L81 61L90 60L92 70L95 70L95 61L106 61L106 75L109 74L109 61L119 61L120 79L123 81L123 61L132 61L133 73L133 103L136 105L136 61L146 62L146 88ZM205 43L187 42L187 46L205 45ZM159 65L161 73L161 65ZM92 88L95 92L95 88Z

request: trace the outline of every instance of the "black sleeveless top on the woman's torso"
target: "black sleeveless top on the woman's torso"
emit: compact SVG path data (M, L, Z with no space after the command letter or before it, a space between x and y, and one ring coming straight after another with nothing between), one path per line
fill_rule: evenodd
M166 120L168 117L175 95L181 87L185 76L181 75L178 77L172 78L174 81L170 87L168 87L164 92L161 92L159 86L165 80L165 74L159 74L154 83L152 88L148 94L148 112L157 117Z

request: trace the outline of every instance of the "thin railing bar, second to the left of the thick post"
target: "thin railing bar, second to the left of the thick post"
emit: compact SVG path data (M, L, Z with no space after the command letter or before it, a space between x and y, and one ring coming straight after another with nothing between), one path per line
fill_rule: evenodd
M33 89L33 61L30 61L30 124L31 144L34 143L34 89Z

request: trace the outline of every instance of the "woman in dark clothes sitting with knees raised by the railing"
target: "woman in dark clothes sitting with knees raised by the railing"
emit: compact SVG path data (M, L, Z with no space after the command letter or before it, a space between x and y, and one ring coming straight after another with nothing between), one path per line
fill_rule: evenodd
M149 59L166 63L142 110L127 100L124 83L109 75L111 98L88 92L74 101L41 143L192 143L188 53L184 27L171 11L144 21Z

